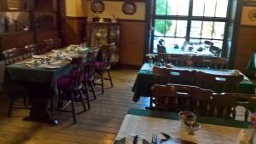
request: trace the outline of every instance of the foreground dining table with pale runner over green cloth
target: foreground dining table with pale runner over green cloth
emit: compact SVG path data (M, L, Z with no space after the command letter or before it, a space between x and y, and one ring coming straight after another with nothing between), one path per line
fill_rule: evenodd
M132 141L132 138L136 135L141 140L148 141L142 143L150 144L153 135L157 135L157 143L155 144L236 144L241 141L241 131L245 132L243 134L247 135L247 139L250 139L253 134L251 122L201 116L196 117L196 122L201 125L201 128L195 131L194 135L189 135L177 112L130 109L121 124L115 144L125 144L125 141L129 141L129 138ZM168 135L168 139L165 135ZM163 140L165 141L163 142ZM255 136L253 141L256 141ZM137 141L136 143L140 142Z

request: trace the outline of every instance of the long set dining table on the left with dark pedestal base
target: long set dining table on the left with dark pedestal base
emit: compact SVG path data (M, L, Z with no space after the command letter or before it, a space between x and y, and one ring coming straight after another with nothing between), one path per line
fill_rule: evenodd
M4 88L12 98L28 96L29 121L59 124L49 112L49 106L55 109L58 101L57 79L73 69L73 57L85 56L93 48L80 48L70 45L64 49L54 49L44 55L32 55L32 58L6 66Z

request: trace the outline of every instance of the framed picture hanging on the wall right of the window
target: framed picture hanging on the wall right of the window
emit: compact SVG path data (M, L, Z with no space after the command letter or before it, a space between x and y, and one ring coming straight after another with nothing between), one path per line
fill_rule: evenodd
M256 7L244 6L241 11L241 25L256 26Z

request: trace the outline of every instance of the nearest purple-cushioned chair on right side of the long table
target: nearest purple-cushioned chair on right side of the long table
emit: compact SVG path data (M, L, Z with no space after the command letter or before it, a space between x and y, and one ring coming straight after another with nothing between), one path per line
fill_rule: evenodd
M87 108L84 104L84 95L82 93L83 79L84 79L84 57L80 56L73 58L72 60L73 70L71 73L75 73L73 77L62 77L57 81L58 89L60 91L60 101L71 101L73 123L76 123L76 111L75 111L75 99L82 102L84 111L90 110L89 96L86 96Z

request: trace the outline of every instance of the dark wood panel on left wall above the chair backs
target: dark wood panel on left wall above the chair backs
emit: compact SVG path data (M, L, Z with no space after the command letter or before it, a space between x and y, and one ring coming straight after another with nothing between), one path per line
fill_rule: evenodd
M33 32L15 32L0 35L1 50L17 48L31 43L33 43Z

